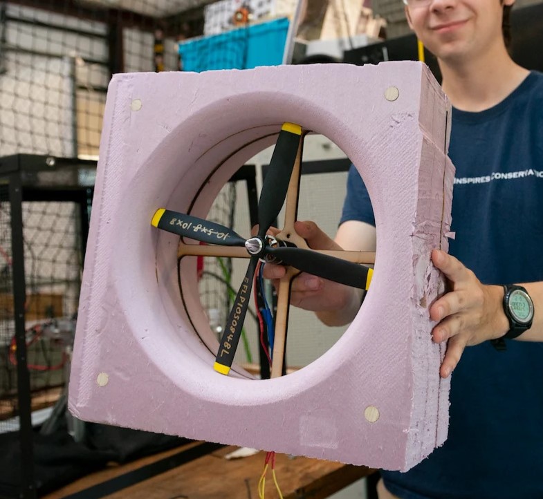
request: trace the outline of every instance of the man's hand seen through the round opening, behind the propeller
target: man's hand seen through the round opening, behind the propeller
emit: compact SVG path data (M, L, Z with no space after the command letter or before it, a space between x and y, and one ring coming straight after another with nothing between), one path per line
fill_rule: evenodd
M294 228L312 249L342 249L314 222L297 221ZM277 233L277 230L273 232ZM285 274L286 270L282 265L266 264L264 267L266 279L277 281ZM274 285L277 287L277 282ZM317 316L329 326L350 322L360 308L360 301L360 290L306 272L296 276L292 283L291 304L317 312Z

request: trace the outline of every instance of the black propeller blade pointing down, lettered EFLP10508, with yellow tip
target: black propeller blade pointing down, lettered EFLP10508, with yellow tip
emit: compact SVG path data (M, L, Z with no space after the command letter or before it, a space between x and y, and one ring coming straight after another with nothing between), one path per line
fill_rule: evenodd
M234 355L236 348L241 337L241 329L243 328L243 322L247 314L249 307L252 279L255 277L255 270L257 269L258 257L252 256L249 261L249 267L245 278L239 287L236 299L234 300L234 306L230 310L228 321L226 321L226 329L224 330L221 343L219 345L219 352L217 352L217 359L213 366L217 372L228 375L230 373L230 367L234 361Z

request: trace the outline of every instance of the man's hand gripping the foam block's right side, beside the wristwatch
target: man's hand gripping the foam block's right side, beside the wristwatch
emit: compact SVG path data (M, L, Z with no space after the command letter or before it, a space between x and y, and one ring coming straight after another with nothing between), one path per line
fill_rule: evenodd
M502 337L509 323L501 306L501 286L482 284L457 258L439 249L432 252L432 262L450 283L450 292L430 307L430 318L441 321L432 331L433 340L448 341L440 370L441 377L448 377L466 346Z

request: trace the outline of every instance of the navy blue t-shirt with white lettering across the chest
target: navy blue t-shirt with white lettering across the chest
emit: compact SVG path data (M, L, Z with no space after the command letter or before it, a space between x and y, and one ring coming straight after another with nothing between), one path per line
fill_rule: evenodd
M543 74L503 102L453 110L457 172L450 253L486 284L543 281ZM342 222L375 225L351 167ZM383 471L402 499L543 499L543 343L464 351L450 392L449 436L407 473Z

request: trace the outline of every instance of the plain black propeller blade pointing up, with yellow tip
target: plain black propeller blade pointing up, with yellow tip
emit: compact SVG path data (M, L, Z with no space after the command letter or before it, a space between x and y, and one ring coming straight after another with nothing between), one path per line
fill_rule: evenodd
M302 127L300 125L283 124L258 202L259 238L266 236L266 232L268 232L279 211L281 211L286 191L288 191L288 183L291 181L301 138Z

